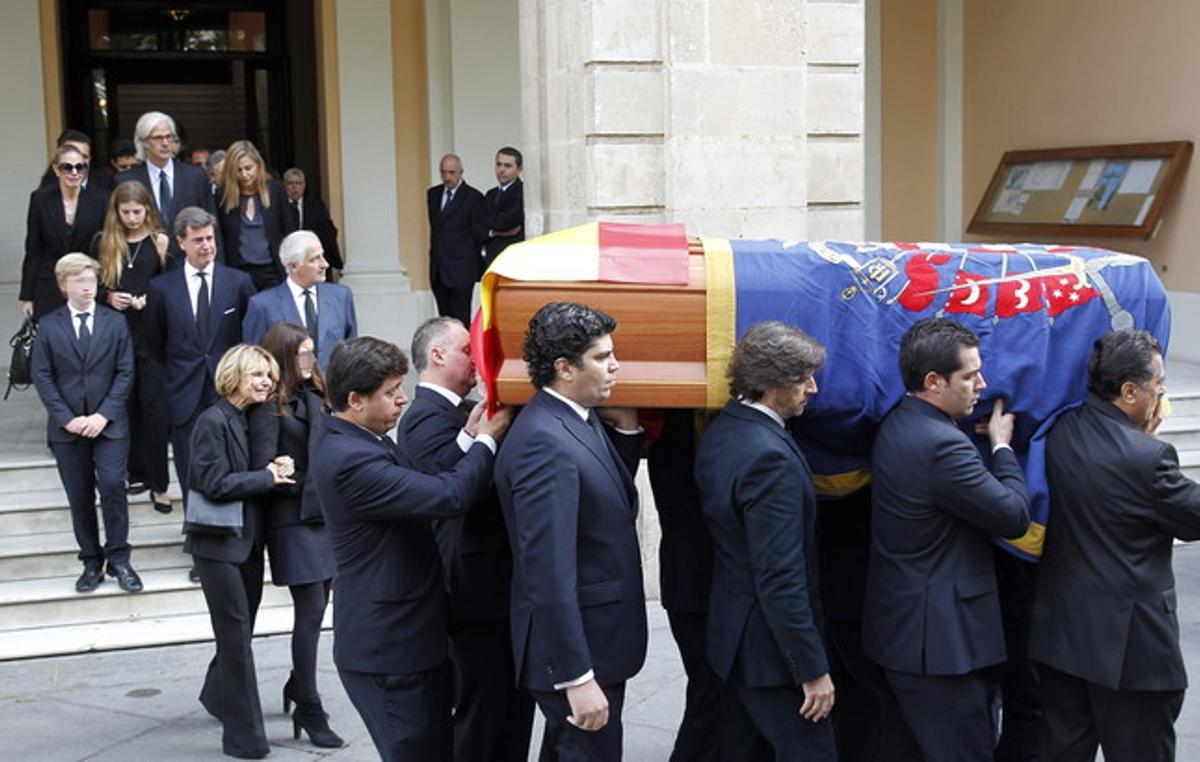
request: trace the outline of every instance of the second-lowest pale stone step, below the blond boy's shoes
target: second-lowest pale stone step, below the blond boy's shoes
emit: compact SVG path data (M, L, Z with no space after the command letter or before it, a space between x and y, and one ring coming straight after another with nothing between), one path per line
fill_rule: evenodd
M134 568L137 568L134 565ZM74 592L74 576L0 582L0 623L4 630L162 618L206 611L200 586L179 569L138 570L145 589L125 593L106 578L94 593ZM290 602L287 588L268 581L263 604Z

